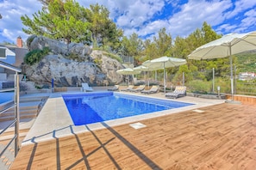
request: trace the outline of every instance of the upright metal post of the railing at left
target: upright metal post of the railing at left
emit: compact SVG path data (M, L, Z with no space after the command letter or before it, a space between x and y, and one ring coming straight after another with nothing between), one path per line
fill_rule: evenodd
M16 115L16 129L15 129L15 133L16 133L16 141L15 141L15 156L18 154L18 151L20 149L20 96L19 93L20 92L20 86L19 86L19 76L18 76L18 72L16 72L15 75L15 115Z

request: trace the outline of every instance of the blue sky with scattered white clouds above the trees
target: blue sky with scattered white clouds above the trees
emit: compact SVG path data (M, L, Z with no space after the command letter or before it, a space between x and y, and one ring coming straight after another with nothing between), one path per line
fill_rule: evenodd
M247 33L256 30L255 0L77 0L89 8L90 4L103 4L117 27L129 36L152 39L165 27L172 38L186 37L206 21L217 33ZM0 0L0 43L16 43L22 32L22 15L32 16L41 10L37 0Z

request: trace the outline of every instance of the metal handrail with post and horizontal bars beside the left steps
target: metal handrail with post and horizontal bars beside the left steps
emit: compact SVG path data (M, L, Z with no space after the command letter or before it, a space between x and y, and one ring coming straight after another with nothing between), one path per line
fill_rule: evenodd
M20 95L19 95L19 91L20 91L20 87L19 87L19 76L18 76L18 72L22 72L21 69L16 68L13 65L10 64L6 64L2 61L0 61L0 67L3 67L4 69L8 69L8 70L13 70L16 72L15 75L15 87L14 88L6 88L6 89L1 89L0 92L7 92L7 91L15 91L14 94L14 104L10 105L10 102L4 103L3 104L3 110L0 111L0 113L6 112L9 109L15 107L15 120L13 122L11 122L10 124L8 124L3 131L1 131L0 136L3 135L4 131L7 131L9 129L10 126L12 126L13 124L15 124L15 136L13 138L10 139L9 143L4 147L3 151L0 152L0 156L3 155L3 153L5 152L5 150L9 147L9 145L11 143L13 143L13 141L15 140L15 157L18 154L18 151L20 149L20 143L19 143L19 124L20 124Z

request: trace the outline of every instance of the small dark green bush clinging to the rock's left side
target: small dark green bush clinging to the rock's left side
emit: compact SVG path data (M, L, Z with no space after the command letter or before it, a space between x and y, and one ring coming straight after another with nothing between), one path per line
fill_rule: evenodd
M43 50L33 50L28 52L24 58L25 64L33 65L41 61L41 58L45 57L50 52L48 47L44 47Z

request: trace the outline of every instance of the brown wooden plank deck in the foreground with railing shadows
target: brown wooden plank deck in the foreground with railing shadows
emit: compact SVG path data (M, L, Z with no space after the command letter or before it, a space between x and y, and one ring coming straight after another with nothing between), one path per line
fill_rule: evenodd
M25 145L10 169L254 170L256 106L200 110Z

